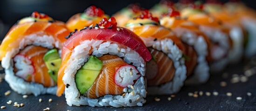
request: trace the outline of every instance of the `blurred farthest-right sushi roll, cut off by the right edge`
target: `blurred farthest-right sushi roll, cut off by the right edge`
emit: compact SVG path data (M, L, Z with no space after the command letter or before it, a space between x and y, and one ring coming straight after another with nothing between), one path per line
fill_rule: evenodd
M245 56L252 57L256 55L256 11L245 6L239 0L230 0L224 6L228 14L234 15L234 19L239 19L239 23L245 29Z

